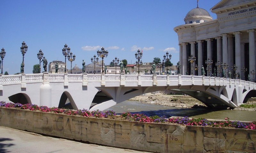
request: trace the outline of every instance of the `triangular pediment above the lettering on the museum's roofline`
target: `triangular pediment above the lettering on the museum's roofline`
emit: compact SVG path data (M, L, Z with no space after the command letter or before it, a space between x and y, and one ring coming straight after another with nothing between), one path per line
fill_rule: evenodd
M222 0L211 8L211 11L216 14L223 12L235 11L251 6L256 6L255 0Z

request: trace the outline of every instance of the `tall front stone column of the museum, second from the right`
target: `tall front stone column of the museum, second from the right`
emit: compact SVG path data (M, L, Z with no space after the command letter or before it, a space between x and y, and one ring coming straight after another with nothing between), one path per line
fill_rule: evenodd
M241 58L244 58L244 56L241 56L241 42L240 42L240 32L238 31L238 32L235 32L235 33L233 33L234 35L235 35L235 47L236 47L236 53L235 53L235 55L236 55L236 66L237 66L237 72L239 72L240 74L241 74L241 69L242 69L242 67L241 67Z

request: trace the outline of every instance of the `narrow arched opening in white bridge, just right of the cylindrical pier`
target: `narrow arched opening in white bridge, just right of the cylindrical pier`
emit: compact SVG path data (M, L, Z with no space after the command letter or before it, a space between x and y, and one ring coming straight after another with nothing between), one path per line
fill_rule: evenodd
M76 103L68 91L62 93L58 108L77 109Z

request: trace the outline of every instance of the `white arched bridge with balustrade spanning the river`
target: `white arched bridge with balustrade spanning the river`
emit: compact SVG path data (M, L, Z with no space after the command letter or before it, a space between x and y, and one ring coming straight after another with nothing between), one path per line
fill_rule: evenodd
M175 90L208 107L235 108L255 97L256 84L240 79L183 75L19 74L0 75L0 101L38 106L105 110L148 92Z

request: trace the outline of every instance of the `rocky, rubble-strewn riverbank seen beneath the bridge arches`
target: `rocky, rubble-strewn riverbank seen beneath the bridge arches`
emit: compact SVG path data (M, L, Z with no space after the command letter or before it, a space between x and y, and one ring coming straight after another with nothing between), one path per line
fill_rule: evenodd
M173 107L183 107L183 108L207 108L201 101L183 95L164 95L162 93L151 94L147 93L145 95L140 95L129 100L141 101L146 104L155 104L162 106L173 106ZM244 105L256 105L256 98L250 98ZM238 106L235 110L246 110L246 111L256 111L256 108L245 108Z

